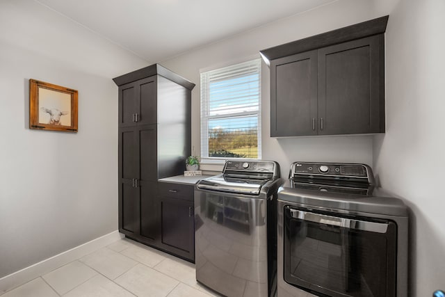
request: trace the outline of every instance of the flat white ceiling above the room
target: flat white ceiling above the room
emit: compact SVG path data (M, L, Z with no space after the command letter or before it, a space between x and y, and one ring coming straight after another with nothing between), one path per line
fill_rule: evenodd
M337 0L35 0L158 63Z

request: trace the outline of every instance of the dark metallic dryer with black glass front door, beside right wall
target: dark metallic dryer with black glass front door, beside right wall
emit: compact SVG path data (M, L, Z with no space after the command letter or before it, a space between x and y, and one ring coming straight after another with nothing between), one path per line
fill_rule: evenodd
M277 199L277 296L407 296L408 210L365 164L296 162Z

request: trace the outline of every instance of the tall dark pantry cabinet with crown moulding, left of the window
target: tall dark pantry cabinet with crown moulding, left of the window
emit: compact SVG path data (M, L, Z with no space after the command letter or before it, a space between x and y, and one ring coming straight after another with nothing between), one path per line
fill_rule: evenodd
M159 64L113 81L119 87L119 231L159 247L158 179L184 173L195 84Z

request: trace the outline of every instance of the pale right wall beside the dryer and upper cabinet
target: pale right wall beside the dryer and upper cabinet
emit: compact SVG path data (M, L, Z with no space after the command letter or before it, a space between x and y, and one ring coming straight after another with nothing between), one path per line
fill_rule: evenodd
M374 141L382 186L412 211L412 296L445 289L445 2L404 0L386 35L387 133Z

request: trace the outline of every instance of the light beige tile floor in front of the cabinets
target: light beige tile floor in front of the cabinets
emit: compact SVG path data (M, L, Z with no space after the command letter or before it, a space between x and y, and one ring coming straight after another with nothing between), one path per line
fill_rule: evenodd
M1 295L1 294L0 294ZM41 275L1 297L209 297L195 265L122 239Z

